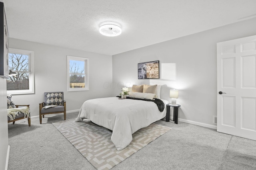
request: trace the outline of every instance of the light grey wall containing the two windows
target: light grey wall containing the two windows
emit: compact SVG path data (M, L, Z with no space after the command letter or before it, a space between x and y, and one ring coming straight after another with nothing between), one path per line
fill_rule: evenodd
M112 56L51 45L9 40L9 47L34 51L35 94L13 95L14 104L30 104L31 116L39 115L44 92L63 91L67 111L80 109L83 102L112 96ZM67 92L67 55L89 58L89 91ZM31 122L33 124L33 122Z

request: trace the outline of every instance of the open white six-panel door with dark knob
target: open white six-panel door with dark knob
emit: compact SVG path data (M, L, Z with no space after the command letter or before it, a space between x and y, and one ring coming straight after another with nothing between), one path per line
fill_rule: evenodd
M256 140L256 35L217 43L217 90L217 131Z

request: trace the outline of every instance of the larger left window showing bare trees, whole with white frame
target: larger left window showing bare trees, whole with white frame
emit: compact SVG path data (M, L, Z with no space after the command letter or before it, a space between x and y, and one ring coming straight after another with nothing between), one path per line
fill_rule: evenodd
M33 51L9 49L9 70L17 75L7 79L7 94L34 93Z

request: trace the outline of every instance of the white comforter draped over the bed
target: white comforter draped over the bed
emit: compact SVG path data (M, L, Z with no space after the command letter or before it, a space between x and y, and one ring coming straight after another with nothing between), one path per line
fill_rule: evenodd
M117 150L124 149L132 141L132 134L166 115L160 112L154 102L117 97L87 100L80 108L76 121L90 120L112 130L111 140Z

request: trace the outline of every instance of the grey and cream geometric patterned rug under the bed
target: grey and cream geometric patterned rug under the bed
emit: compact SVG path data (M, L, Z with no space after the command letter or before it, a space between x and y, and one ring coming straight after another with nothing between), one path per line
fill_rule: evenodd
M112 132L102 126L75 119L52 124L98 170L111 169L171 129L152 123L132 134L132 142L118 151L110 139Z

